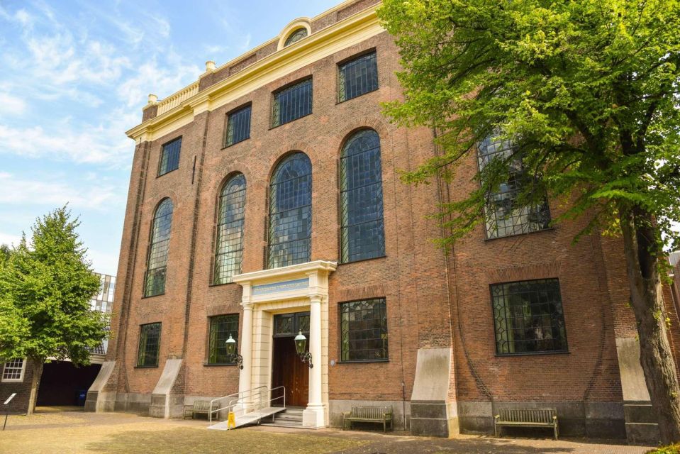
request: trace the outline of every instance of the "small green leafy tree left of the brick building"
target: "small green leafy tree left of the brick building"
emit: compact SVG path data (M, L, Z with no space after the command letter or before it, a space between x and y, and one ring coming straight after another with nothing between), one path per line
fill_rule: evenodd
M90 309L99 278L89 268L66 207L38 218L31 245L23 235L0 267L0 358L33 365L28 414L33 413L45 360L89 364L90 350L106 337L106 316Z

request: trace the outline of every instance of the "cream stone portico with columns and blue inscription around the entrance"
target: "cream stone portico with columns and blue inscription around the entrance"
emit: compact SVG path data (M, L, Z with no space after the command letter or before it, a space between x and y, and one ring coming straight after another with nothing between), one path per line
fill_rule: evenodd
M337 265L315 260L233 277L243 287L239 392L272 384L274 315L309 311L307 342L313 367L304 427L328 426L328 275Z

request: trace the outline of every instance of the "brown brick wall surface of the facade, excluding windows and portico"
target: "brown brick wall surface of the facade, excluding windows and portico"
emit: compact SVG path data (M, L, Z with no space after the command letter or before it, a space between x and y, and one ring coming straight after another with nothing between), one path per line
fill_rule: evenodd
M312 21L325 30L375 1L346 2ZM272 41L273 43L273 41ZM254 65L272 52L272 43L201 77L200 90ZM337 64L375 49L379 89L337 102ZM265 52L266 50L266 52ZM401 99L400 69L393 39L385 32L292 70L228 103L194 115L193 121L135 148L118 268L113 326L116 348L107 360L115 368L106 384L116 409L143 411L167 359L182 359L173 394L185 404L238 390L233 366L207 366L208 317L242 314L240 285L212 285L218 195L225 180L242 172L247 180L243 272L266 267L267 191L272 171L287 153L299 150L312 163L311 260L337 261L338 160L347 137L373 128L381 140L386 257L340 264L330 275L328 298L328 398L330 423L350 401L391 402L411 414L411 394L419 352L450 350L447 402L462 431L491 431L498 406L548 405L560 414L568 435L625 436L617 338L635 336L627 306L628 285L618 240L572 239L586 220L509 238L486 240L483 228L443 250L435 214L440 201L459 199L474 189L476 160L470 157L450 184L408 186L398 172L413 170L437 150L426 128L397 128L381 114L380 103ZM272 92L313 77L313 114L271 128ZM223 148L225 115L252 104L250 139ZM149 112L152 112L150 114ZM155 111L147 109L145 120ZM182 136L179 169L157 177L162 144ZM150 227L162 199L174 204L165 294L143 298ZM550 201L555 218L564 208ZM567 353L496 355L490 284L557 278L562 292ZM387 301L389 362L342 363L338 304L384 297ZM140 325L162 323L159 367L135 367ZM243 323L243 316L240 316ZM113 343L111 344L113 345ZM403 408L402 408L403 407ZM335 410L334 410L335 409ZM401 422L403 424L403 421Z

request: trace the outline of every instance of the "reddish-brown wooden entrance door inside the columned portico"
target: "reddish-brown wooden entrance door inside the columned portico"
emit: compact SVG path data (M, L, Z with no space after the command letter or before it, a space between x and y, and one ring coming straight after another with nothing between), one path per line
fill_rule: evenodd
M293 338L274 338L273 353L272 388L286 387L286 406L307 406L309 367L295 353Z

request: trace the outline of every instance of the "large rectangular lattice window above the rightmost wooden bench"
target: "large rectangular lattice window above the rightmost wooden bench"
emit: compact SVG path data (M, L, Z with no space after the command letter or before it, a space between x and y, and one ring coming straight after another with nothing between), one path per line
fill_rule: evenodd
M499 355L567 351L557 279L491 285Z

